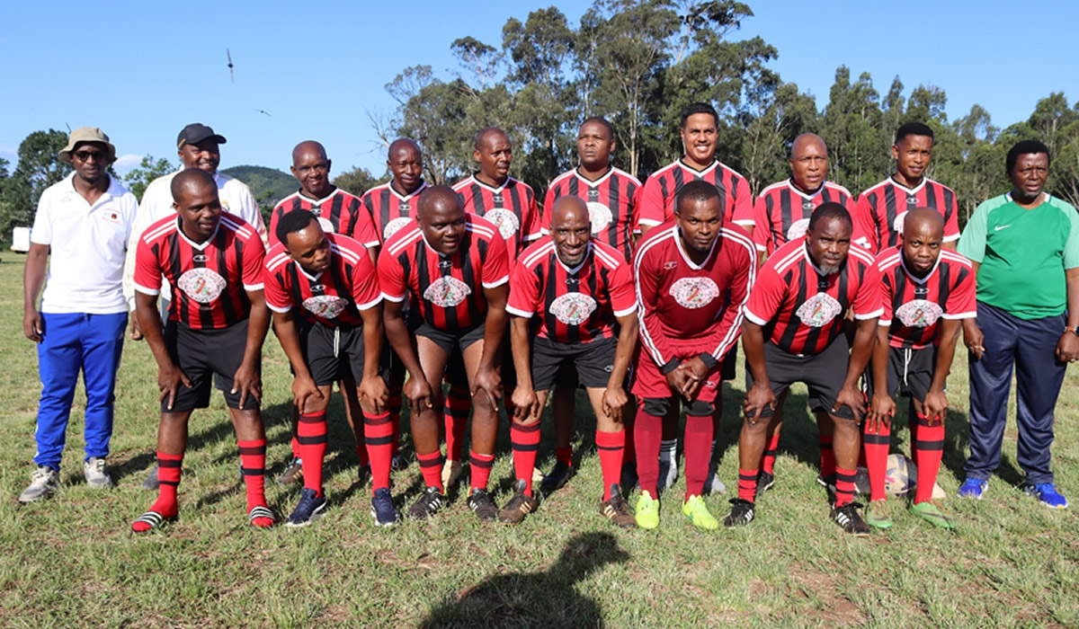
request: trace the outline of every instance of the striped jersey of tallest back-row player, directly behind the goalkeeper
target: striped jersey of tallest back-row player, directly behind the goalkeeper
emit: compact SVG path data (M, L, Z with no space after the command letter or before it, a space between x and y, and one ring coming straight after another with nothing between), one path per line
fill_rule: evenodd
M638 210L638 229L641 225L655 227L674 218L674 195L682 186L696 179L708 181L723 194L725 221L753 228L753 193L745 177L719 160L704 170L691 168L682 160L677 160L653 173L644 182L641 207Z

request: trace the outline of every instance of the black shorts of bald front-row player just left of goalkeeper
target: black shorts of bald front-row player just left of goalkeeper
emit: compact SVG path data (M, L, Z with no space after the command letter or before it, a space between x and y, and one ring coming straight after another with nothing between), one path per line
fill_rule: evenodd
M547 391L556 381L560 368L572 365L577 380L572 386L606 388L614 368L618 339L597 339L590 343L559 343L543 337L532 340L532 388ZM559 380L559 384L563 384Z

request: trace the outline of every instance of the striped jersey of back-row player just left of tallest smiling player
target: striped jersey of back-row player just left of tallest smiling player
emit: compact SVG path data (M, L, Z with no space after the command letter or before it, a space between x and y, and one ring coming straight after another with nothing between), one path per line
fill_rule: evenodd
M589 181L578 168L558 176L547 188L543 207L544 230L550 227L550 209L559 196L579 196L588 204L592 237L611 245L627 261L633 258L633 233L643 187L625 170L610 167L605 175Z

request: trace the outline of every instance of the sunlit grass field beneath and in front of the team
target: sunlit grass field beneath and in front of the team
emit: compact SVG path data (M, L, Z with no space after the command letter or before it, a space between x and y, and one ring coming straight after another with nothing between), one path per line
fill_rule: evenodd
M355 454L334 400L327 494L331 509L303 530L246 524L238 454L220 395L191 422L180 483L180 521L147 537L128 533L153 501L139 483L152 465L156 375L145 343L128 342L117 392L110 466L118 482L96 492L82 482L82 410L77 394L62 468L44 503L19 507L29 481L40 393L33 345L22 334L22 262L0 259L0 626L1079 626L1076 509L1051 511L1015 484L1015 429L1009 426L1000 477L980 503L948 497L960 523L951 534L892 503L896 527L845 536L828 518L817 487L816 427L805 392L788 401L778 483L749 528L706 533L681 516L679 481L654 532L617 531L597 512L600 489L590 412L578 412L578 473L519 527L482 524L464 496L435 519L374 527L369 488L355 482ZM950 383L955 409L940 484L961 481L967 446L966 364ZM264 358L268 480L288 456L289 377L271 338ZM1073 372L1057 406L1054 469L1079 500L1079 395ZM726 394L735 416L743 385ZM578 409L587 408L584 397ZM901 407L903 405L900 405ZM1014 402L1012 412L1014 416ZM902 423L902 421L898 422ZM545 418L545 436L549 416ZM719 435L716 457L732 488L736 421ZM508 430L492 475L496 501L509 495ZM906 448L905 429L897 446ZM407 436L405 448L410 453ZM544 468L554 446L545 438ZM401 507L421 489L414 462L394 476ZM298 489L268 482L287 515ZM728 495L711 496L713 514ZM636 495L631 497L636 501Z

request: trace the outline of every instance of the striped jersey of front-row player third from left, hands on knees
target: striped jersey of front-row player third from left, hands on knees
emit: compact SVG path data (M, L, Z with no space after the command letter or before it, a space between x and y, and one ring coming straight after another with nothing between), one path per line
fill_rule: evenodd
M509 282L506 242L490 221L465 215L465 235L451 256L431 248L419 223L397 231L379 254L382 297L402 302L433 328L456 332L483 323L482 288ZM482 286L482 288L480 288Z

